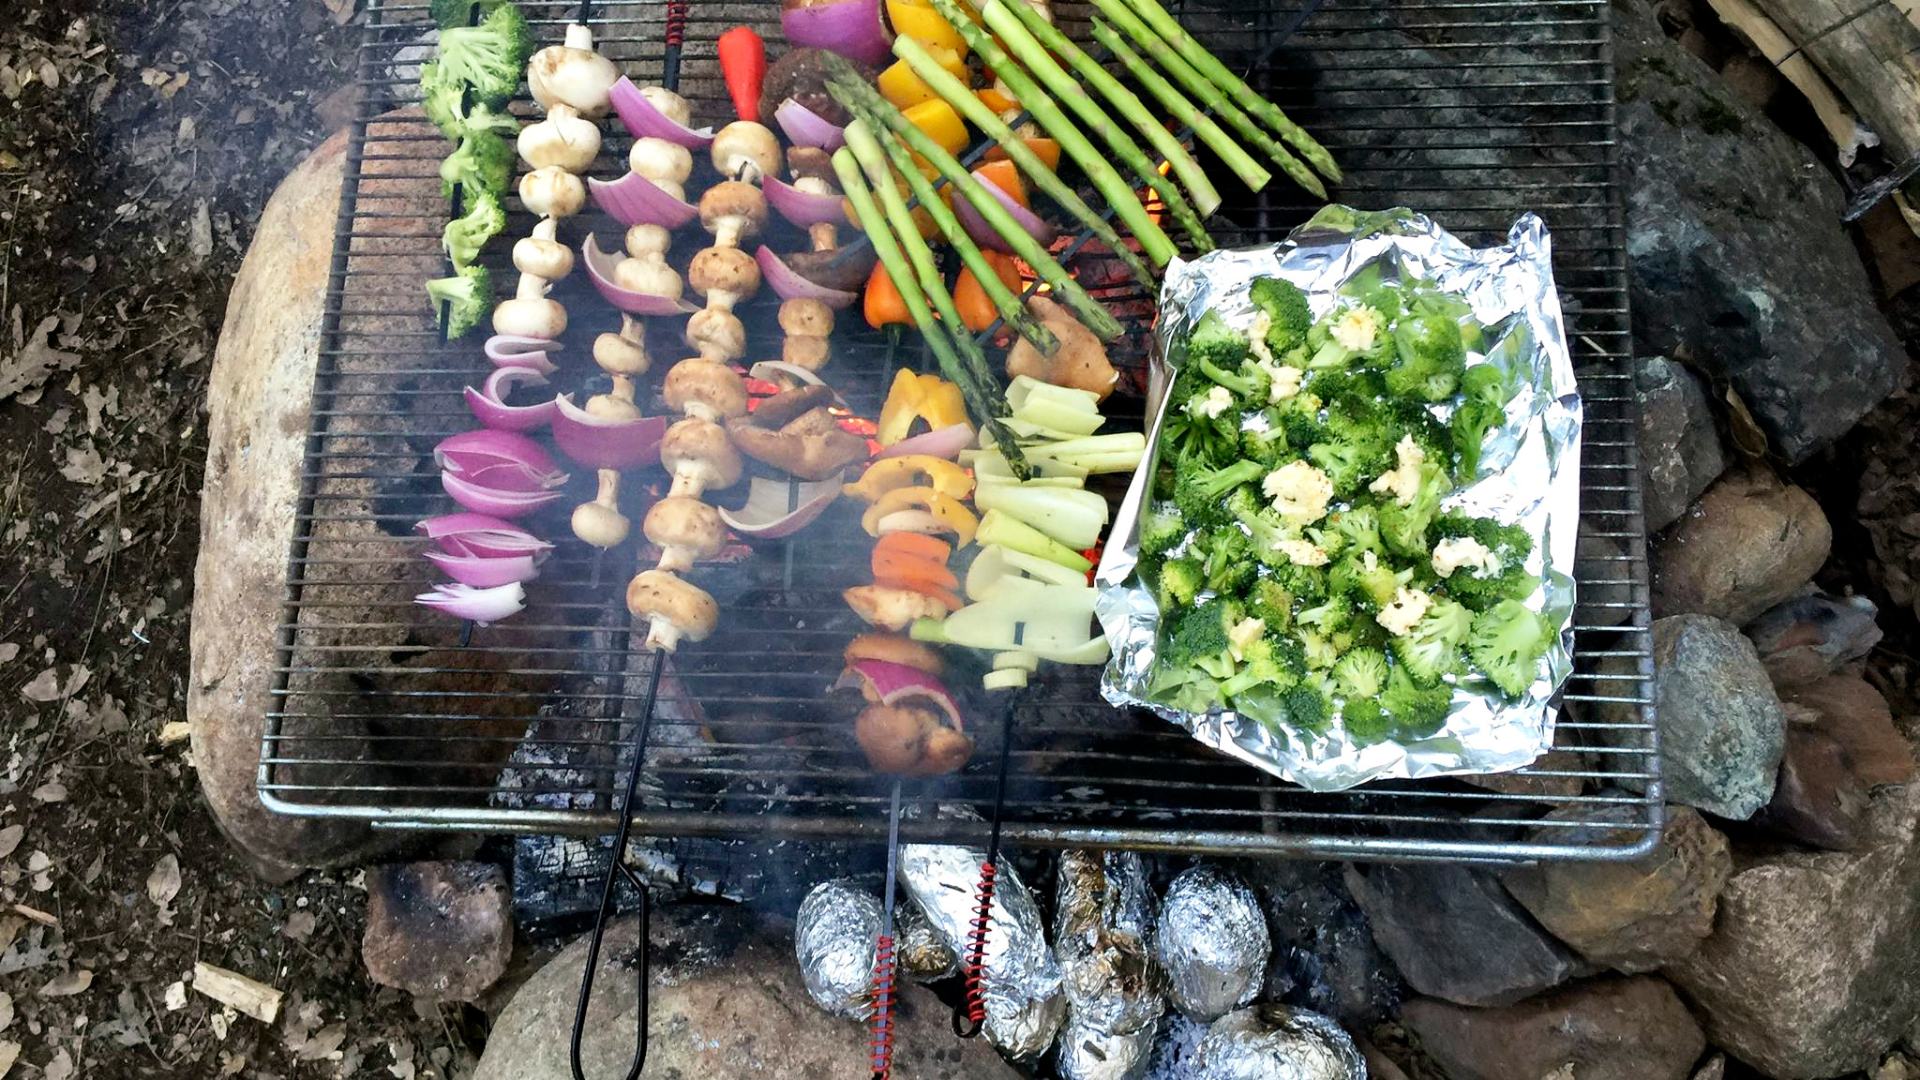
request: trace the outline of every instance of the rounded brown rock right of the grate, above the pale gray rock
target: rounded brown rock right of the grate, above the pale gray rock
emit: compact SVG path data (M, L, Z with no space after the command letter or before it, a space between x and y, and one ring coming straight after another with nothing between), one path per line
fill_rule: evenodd
M1653 546L1653 617L1743 626L1799 594L1832 546L1812 496L1772 473L1728 473Z

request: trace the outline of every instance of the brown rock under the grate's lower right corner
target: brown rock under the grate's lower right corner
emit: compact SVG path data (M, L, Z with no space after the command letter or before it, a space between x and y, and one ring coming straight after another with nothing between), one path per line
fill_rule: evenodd
M1624 840L1624 809L1561 807L1548 821L1584 821L1596 840ZM1538 838L1571 840L1567 828ZM1655 970L1692 953L1713 932L1715 901L1734 857L1692 807L1668 807L1651 855L1632 863L1538 863L1509 871L1507 892L1597 967Z

